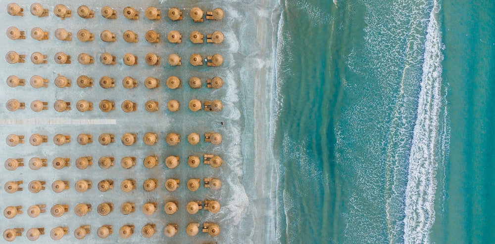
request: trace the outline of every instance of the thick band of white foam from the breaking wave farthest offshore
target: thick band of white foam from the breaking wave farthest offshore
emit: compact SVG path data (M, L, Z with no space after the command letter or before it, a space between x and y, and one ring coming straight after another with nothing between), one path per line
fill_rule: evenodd
M423 63L423 76L413 142L409 156L405 193L404 243L429 243L435 222L436 171L442 90L442 41L435 0L430 13Z

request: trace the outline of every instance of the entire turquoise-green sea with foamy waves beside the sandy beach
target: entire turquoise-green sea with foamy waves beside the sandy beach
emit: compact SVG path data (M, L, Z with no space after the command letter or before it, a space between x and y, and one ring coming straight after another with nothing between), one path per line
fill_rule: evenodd
M279 243L494 243L495 3L286 0Z

